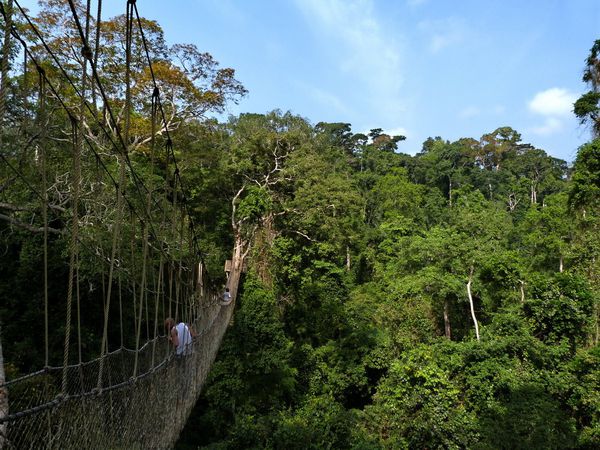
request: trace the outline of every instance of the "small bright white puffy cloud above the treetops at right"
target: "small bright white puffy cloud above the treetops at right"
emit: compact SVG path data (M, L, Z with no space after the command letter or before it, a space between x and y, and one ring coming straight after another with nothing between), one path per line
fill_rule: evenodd
M571 116L577 94L563 88L550 88L538 92L527 103L529 110L544 116L544 123L531 131L540 136L549 136L563 130L564 121Z

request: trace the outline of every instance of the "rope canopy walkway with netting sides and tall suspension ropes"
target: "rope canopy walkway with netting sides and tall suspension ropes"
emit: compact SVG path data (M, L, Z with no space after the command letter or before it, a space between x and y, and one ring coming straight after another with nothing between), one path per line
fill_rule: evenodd
M0 345L0 448L170 448L230 323L243 260L233 260L233 301L223 304L174 151L175 106L163 104L135 0L124 2L113 73L101 64L101 0L96 17L90 0L62 3L72 27L57 37L18 1L0 1L0 239L5 258L28 249L15 267L37 268L31 298L10 304L39 310L21 333L44 357L13 376ZM107 89L115 76L120 85ZM3 332L19 314L3 309L8 294L0 290ZM86 315L101 323L86 326ZM185 356L167 317L196 332Z

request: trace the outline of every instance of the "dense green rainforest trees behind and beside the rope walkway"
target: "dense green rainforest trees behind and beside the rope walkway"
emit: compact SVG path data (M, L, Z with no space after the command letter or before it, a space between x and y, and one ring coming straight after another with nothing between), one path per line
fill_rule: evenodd
M65 70L78 73L77 52L65 50L76 34L65 6L41 3L40 31ZM98 62L107 95L121 104L122 23L103 23ZM177 448L600 446L600 40L572 68L583 69L589 88L574 113L592 138L570 165L509 126L455 142L429 138L415 153L404 136L382 129L356 133L348 123L314 124L279 110L208 119L245 95L234 71L192 45L167 46L158 23L143 25L169 121L156 130L145 115L149 101L140 100L129 136L132 164L162 192L174 169L149 149L151 137L163 143L168 131L215 286L224 282L232 248L244 250L247 265L234 319ZM130 94L140 99L150 97L142 54L132 64ZM28 189L42 182L33 144L40 122L52 125L45 127L54 174L47 189L49 314L57 325L50 362L61 356L64 311L52 299L64 295L69 242L61 229L72 200L69 117L56 93L51 112L40 113L36 67L26 61L24 71L20 57L15 45L6 103L13 126L2 141L30 149L4 153L0 168L0 320L9 378L44 365L42 331L23 333L44 327L41 215ZM56 60L46 59L44 69L62 76ZM56 87L77 102L72 86ZM86 135L109 151L98 129ZM90 173L97 160L84 161ZM79 218L91 248L106 247L119 217L114 193L95 181L84 180ZM129 181L124 189L134 188ZM128 220L123 234L135 235ZM171 224L155 225L176 247ZM85 252L82 259L90 288L82 292L80 339L84 357L92 357L106 273Z

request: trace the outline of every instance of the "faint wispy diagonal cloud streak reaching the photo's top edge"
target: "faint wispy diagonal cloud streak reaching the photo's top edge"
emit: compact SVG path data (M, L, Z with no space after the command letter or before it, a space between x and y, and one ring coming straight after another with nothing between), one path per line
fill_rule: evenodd
M308 23L327 36L337 69L354 79L371 107L398 117L403 71L399 44L383 29L372 0L296 0Z

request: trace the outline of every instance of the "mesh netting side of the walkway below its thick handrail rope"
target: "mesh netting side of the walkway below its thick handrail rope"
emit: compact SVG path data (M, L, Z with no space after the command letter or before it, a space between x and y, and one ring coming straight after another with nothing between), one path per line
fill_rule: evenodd
M67 368L49 367L1 388L8 390L10 414L4 448L170 448L193 408L233 308L216 296L202 299L193 323L191 351L177 356L166 336L139 351L122 348ZM132 377L135 355L138 375ZM98 373L103 364L100 383Z

